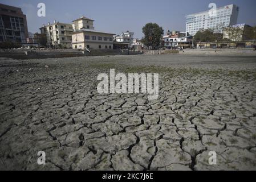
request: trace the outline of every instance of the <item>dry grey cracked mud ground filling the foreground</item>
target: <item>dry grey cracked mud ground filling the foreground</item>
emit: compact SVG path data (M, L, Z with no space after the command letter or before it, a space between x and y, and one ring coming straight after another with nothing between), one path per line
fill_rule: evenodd
M158 100L98 94L110 68L159 73ZM256 170L255 68L255 56L1 58L0 169Z

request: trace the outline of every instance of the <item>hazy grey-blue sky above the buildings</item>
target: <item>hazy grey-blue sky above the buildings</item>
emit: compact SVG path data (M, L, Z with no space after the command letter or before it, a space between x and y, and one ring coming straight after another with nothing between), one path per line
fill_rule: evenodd
M46 5L46 17L37 16L37 5ZM39 32L43 23L53 23L56 19L63 23L84 15L94 19L95 30L120 34L135 32L141 38L142 27L157 23L166 30L185 31L185 15L208 10L209 3L217 7L235 4L240 7L238 22L256 25L255 0L0 0L0 3L21 7L27 15L30 32Z

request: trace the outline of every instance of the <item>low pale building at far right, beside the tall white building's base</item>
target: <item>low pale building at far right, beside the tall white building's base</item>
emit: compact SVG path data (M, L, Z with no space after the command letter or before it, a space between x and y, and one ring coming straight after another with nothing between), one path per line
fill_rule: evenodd
M231 41L242 41L245 39L245 31L246 28L250 28L251 26L242 23L242 24L234 24L233 26L225 28L223 31L223 39L230 39Z

